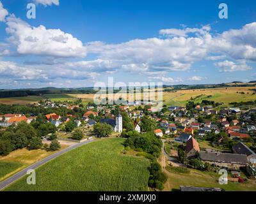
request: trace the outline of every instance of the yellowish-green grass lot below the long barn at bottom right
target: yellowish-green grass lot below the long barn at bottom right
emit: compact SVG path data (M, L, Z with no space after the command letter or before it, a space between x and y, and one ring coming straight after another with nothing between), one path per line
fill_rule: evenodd
M167 169L167 168L166 168ZM220 185L218 179L221 175L212 172L203 172L198 170L190 170L182 173L182 171L166 170L168 180L165 184L164 191L179 190L180 186L195 187L220 187L225 191L256 191L256 180L250 179L243 184L236 182L228 182L227 185Z

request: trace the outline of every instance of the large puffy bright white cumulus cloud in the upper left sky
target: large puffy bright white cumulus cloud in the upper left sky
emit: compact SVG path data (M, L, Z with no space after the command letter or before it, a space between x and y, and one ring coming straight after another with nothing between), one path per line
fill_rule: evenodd
M72 34L60 29L46 29L44 25L32 27L20 18L7 18L9 41L17 46L19 54L49 55L54 57L85 57L83 43Z

